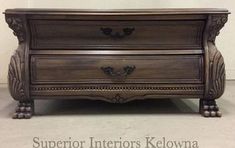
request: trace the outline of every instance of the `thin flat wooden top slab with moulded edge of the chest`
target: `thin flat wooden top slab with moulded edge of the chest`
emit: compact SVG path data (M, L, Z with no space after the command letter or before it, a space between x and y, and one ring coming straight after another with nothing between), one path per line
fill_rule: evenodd
M171 9L7 9L5 14L41 15L161 15L161 14L229 14L222 8L171 8Z

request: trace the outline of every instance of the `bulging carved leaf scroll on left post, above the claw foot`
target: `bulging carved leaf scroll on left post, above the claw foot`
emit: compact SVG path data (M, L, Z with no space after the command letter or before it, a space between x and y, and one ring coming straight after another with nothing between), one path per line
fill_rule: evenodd
M20 52L16 50L11 57L11 62L8 71L8 85L11 96L15 100L22 100L25 98L24 84L22 81L22 64L20 60Z

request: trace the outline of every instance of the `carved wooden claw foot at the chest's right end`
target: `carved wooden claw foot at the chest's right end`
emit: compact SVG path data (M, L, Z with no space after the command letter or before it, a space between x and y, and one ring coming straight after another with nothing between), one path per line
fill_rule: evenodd
M222 116L215 100L200 99L200 113L204 117L221 117Z

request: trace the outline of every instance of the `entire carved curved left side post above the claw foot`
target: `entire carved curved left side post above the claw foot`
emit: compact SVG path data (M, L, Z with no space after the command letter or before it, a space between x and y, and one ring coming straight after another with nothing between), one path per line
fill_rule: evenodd
M15 54L11 57L8 70L8 86L11 96L15 100L25 100L27 95L25 94L25 24L24 18L18 15L6 15L6 22L9 27L14 31L14 35L17 36L19 46L15 51Z

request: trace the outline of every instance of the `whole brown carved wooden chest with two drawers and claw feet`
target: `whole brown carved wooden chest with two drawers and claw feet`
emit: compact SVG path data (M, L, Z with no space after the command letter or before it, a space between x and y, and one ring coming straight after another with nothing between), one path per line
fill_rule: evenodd
M125 103L197 98L200 113L220 117L223 57L215 38L224 9L7 9L19 40L9 65L14 118L30 118L35 99Z

